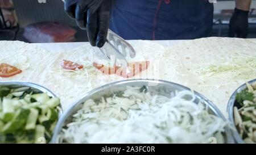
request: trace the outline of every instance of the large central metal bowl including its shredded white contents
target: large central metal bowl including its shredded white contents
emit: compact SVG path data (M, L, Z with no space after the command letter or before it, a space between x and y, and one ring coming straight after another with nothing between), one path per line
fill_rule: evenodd
M53 143L233 143L210 100L162 80L130 79L86 93L64 112Z

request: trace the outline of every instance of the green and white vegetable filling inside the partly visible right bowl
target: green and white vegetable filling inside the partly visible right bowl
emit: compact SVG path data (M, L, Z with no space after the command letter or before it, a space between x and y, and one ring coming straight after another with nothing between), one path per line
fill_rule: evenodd
M256 83L246 83L247 89L236 96L234 122L245 143L256 143Z

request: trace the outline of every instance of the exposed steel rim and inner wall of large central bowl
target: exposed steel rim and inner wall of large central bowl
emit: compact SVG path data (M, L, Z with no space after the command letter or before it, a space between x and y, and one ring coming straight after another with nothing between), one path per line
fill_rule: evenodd
M82 103L84 103L88 99L101 99L104 96L113 95L114 92L117 91L124 91L126 90L126 86L135 86L135 87L142 87L148 86L148 91L154 90L154 92L158 92L161 95L168 95L170 97L171 92L175 91L182 91L182 90L190 90L188 87L181 86L176 83L162 81L162 80L150 80L150 79L130 79L125 81L118 81L109 83L107 85L98 87L92 91L86 93L85 97L80 99L78 102L73 104L67 111L64 112L63 116L60 118L59 122L56 125L55 132L53 133L52 142L57 143L57 137L61 132L61 129L65 127L66 124L72 122L72 115L76 114L78 110L82 108ZM155 91L156 90L156 91ZM207 104L209 107L210 114L216 115L223 120L226 120L225 117L221 114L220 110L210 100L203 97L203 95L195 92L196 94L196 102L198 103L200 100L203 103ZM232 133L230 132L229 128L225 128L225 142L226 143L233 143Z

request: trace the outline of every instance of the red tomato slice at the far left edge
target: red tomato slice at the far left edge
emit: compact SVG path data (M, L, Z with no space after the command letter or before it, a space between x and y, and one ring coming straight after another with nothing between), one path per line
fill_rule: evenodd
M16 68L15 66L11 66L9 64L0 64L0 77L7 78L15 76L16 74L21 73L22 70Z

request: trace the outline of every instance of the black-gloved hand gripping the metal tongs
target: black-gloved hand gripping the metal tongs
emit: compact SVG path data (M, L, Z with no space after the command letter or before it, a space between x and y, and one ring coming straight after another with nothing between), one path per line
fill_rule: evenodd
M87 31L92 46L102 47L109 29L112 0L65 0L64 9Z

